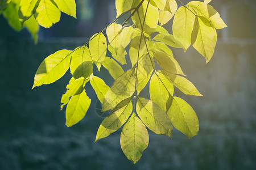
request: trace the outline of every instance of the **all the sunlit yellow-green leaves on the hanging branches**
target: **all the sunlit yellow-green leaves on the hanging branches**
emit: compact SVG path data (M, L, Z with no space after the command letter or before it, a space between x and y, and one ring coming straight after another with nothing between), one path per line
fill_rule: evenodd
M1 9L9 2L1 1ZM175 0L116 0L117 19L75 50L59 50L44 59L32 88L55 82L70 68L72 78L61 97L61 109L67 104L66 125L84 118L90 105L84 87L90 83L102 103L102 112L112 110L102 121L96 141L123 126L121 148L134 164L148 146L147 129L172 137L174 126L191 138L199 131L199 121L192 107L174 96L174 86L186 95L202 95L185 77L169 46L185 52L192 45L209 62L217 41L216 29L226 27L209 2L180 2L178 8ZM19 21L24 25L35 18L43 27L51 27L59 21L60 11L76 17L75 1L22 0ZM118 24L127 13L125 22ZM172 18L173 35L162 27ZM127 24L130 20L133 25ZM112 58L106 57L107 51ZM126 61L127 51L130 61ZM123 71L121 65L127 62L131 67ZM101 66L109 71L115 79L111 87L94 75L93 64L99 71ZM139 96L147 83L150 99Z

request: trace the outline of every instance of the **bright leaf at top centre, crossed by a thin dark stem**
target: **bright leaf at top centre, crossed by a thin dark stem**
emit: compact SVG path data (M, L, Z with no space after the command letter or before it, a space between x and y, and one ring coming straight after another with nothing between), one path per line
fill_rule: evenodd
M146 15L143 31L148 34L151 34L155 32L156 25L158 25L159 12L158 12L158 8L152 6L151 4L148 5L148 9L147 9L147 4L148 2L144 1L142 3L142 6L139 7L138 12L135 12L135 14L131 17L131 19L139 29L142 29L144 16ZM147 14L146 14L146 9L147 9ZM131 12L133 12L133 10Z

